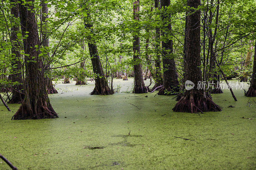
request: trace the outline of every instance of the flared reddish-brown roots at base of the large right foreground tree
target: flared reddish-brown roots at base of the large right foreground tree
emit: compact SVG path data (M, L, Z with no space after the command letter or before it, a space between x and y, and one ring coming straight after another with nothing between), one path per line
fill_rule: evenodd
M186 91L186 95L176 103L172 109L175 112L207 112L221 111L221 106L215 104L209 97L204 98L203 95L196 95L193 90ZM199 96L199 97L198 97Z

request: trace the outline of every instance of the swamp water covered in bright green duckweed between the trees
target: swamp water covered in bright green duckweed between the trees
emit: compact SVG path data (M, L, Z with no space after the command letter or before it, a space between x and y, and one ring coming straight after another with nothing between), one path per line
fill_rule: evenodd
M238 102L228 89L212 95L223 110L199 116L172 112L173 96L121 93L132 82L115 79L110 96L90 96L93 82L58 84L56 119L11 120L19 104L0 103L0 153L19 170L256 168L256 104L244 90Z

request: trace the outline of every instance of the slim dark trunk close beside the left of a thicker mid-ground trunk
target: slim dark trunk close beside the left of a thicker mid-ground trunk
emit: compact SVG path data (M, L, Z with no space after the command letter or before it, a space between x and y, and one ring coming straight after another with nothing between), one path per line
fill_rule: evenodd
M159 9L159 0L155 0L155 10ZM160 47L160 29L156 27L156 61L155 61L155 68L156 68L156 74L154 80L155 80L155 85L151 90L159 90L157 87L163 85L163 75L161 72L161 59L160 59L160 54L159 54L159 47Z

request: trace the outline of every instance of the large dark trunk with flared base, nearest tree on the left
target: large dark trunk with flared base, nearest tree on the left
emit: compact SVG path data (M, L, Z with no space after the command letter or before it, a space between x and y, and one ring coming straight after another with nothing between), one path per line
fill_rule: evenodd
M20 108L13 116L13 119L41 119L56 118L57 113L53 110L50 103L44 81L44 71L42 58L38 57L40 50L35 47L39 44L36 17L32 4L19 4L20 25L22 36L28 35L23 39L24 53L29 56L24 57L26 67L26 97ZM31 11L28 11L30 9ZM33 12L32 12L33 11ZM25 33L28 32L28 33ZM35 58L34 58L35 57ZM27 62L29 60L36 62Z

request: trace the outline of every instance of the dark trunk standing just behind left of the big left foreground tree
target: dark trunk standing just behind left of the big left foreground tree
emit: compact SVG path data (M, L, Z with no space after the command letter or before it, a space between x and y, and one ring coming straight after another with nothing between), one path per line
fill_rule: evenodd
M14 85L12 88L12 99L8 103L22 103L24 100L24 86L23 86L23 80L22 80L22 64L21 64L21 56L19 53L19 43L16 41L17 39L17 33L20 30L19 24L17 19L19 18L19 6L16 2L16 0L11 0L11 3L13 3L11 8L11 14L13 15L12 19L12 29L11 29L11 41L12 41L12 54L15 54L16 56L12 56L12 70L13 74L11 76L12 82L18 82L18 85ZM20 93L21 92L21 93Z

